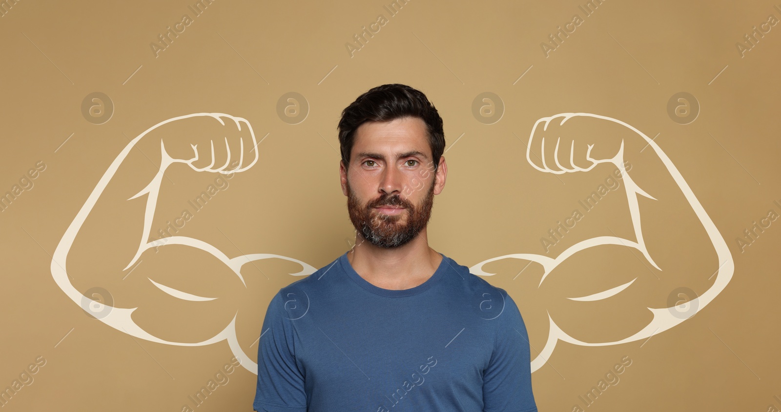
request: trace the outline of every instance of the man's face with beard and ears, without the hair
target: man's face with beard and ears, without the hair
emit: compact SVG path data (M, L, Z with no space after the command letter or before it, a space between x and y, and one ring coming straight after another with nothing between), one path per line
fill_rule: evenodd
M378 247L415 239L444 185L444 175L435 179L426 123L414 117L359 126L349 171L341 174L353 226Z

